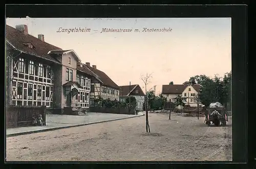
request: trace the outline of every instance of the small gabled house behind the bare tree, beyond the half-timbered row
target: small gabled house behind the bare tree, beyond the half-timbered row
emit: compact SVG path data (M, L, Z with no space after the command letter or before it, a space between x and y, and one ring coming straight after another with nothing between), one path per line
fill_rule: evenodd
M125 102L125 99L129 98L130 95L134 96L137 102L137 109L143 110L145 94L138 84L119 86L119 91L119 101Z

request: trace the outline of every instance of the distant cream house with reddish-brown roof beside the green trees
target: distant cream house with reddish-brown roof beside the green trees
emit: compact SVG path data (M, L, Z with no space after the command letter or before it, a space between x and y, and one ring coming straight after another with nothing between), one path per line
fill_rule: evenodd
M189 85L189 84L179 84L179 85L162 85L162 94L167 98L168 102L174 102L174 99L178 95L182 95L184 98L185 105L191 107L197 106L197 96L200 91L201 85ZM199 103L199 106L202 104Z

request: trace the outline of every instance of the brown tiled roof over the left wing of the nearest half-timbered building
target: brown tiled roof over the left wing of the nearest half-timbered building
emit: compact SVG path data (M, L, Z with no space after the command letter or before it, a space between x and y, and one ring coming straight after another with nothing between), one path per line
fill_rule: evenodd
M51 50L61 50L59 47L49 44L45 41L41 41L40 39L32 35L24 34L23 32L8 25L6 25L6 41L14 49L20 52L43 58L55 63L60 63L60 61L48 54L48 52ZM24 45L24 43L33 44L35 49L27 47L26 45Z

